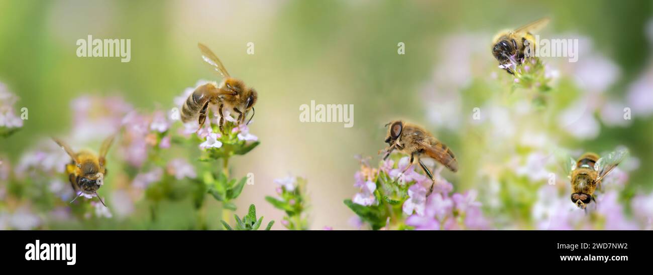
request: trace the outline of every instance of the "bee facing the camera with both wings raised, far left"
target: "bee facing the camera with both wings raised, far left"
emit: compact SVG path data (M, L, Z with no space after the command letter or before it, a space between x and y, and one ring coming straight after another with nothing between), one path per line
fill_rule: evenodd
M61 139L52 138L71 156L71 163L66 165L66 173L71 182L72 190L74 190L76 197L72 199L71 203L83 194L95 194L102 205L106 207L104 201L97 194L97 190L104 184L104 176L106 176L106 153L114 141L114 136L106 138L101 147L99 155L89 150L81 150L79 152L72 151L72 148Z

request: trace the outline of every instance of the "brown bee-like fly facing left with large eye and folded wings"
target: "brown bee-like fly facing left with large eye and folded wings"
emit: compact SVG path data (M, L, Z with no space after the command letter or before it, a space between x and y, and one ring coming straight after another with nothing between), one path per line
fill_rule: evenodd
M438 141L438 139L424 130L421 126L405 123L404 121L392 121L385 126L389 126L388 134L385 138L385 143L388 143L389 146L385 149L383 160L386 160L394 149L398 149L400 152L408 154L410 156L410 165L404 170L404 173L413 166L415 160L417 160L419 166L424 169L424 173L428 175L431 181L435 182L433 174L420 159L421 156L433 158L453 172L458 171L458 162L456 161L456 156L451 152L451 149L449 149L449 147L444 143ZM430 195L432 191L433 184L431 185L427 195Z

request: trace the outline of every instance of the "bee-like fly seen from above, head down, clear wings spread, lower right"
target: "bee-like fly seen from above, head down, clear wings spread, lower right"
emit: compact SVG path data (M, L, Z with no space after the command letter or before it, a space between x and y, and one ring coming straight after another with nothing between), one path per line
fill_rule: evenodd
M600 188L601 181L624 160L626 154L627 149L617 149L601 158L593 152L586 152L577 160L569 157L565 172L571 179L571 202L581 209L592 201L596 202L594 191L597 186Z

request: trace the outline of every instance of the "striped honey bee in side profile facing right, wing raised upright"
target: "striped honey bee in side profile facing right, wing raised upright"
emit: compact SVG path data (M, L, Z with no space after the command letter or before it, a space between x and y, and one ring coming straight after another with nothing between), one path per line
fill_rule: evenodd
M218 86L215 86L215 83L207 83L197 87L193 94L188 96L182 106L183 123L197 117L201 129L206 120L209 104L218 106L220 132L224 132L223 108L232 109L238 113L237 121L241 124L244 123L247 113L251 109L253 111L252 116L249 118L249 121L251 121L251 118L254 117L254 104L256 104L258 96L256 91L252 87L246 87L243 81L229 76L227 68L222 65L220 59L204 44L199 43L197 46L202 52L202 59L214 66L215 70L223 77L223 80ZM247 124L249 124L249 121L247 121Z

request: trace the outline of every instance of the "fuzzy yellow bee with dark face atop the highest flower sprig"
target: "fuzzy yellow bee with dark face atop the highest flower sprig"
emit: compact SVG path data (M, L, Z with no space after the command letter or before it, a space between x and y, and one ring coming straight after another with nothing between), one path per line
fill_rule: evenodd
M501 31L494 36L492 55L499 61L499 65L502 65L510 74L515 74L508 65L520 64L524 57L534 55L536 45L533 33L539 31L548 23L549 18L542 18L514 31Z

